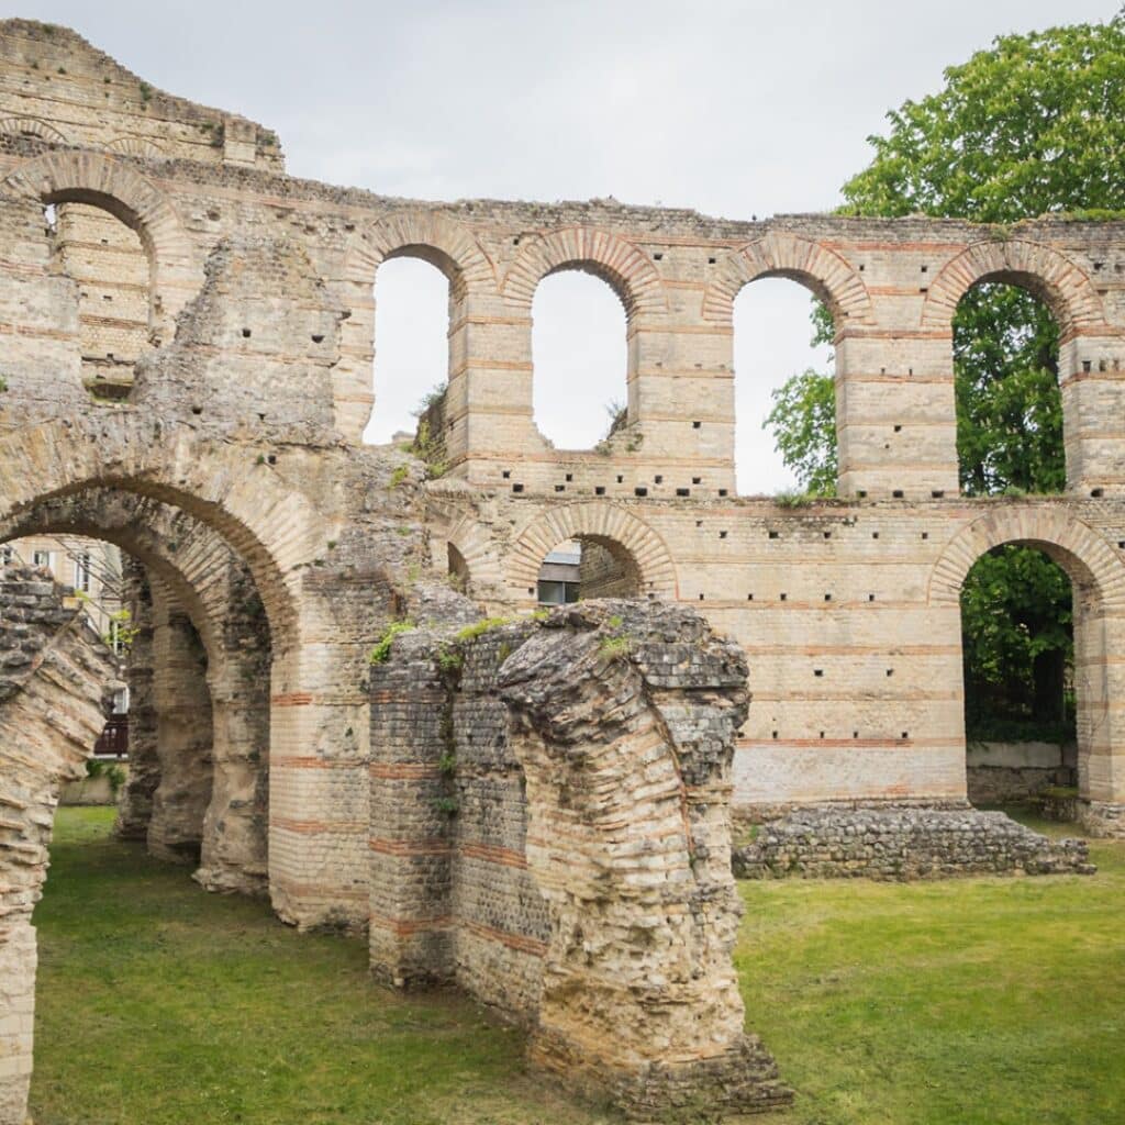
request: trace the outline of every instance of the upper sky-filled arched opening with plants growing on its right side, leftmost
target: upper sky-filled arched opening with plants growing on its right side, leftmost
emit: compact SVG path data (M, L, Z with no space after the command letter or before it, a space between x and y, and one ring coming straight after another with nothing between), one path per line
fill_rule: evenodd
M452 287L440 263L404 251L379 266L375 298L375 407L363 442L413 443L449 378Z

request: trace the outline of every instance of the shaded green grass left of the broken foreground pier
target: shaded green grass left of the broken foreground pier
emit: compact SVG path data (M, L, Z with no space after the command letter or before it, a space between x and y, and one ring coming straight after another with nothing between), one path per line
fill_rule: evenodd
M453 993L377 987L360 942L61 809L36 910L36 1125L593 1125L524 1074L522 1037Z

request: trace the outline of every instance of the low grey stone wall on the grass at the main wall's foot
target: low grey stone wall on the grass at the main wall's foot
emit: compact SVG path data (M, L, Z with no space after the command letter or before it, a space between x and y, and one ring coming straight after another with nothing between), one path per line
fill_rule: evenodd
M742 879L1094 874L1084 840L1051 840L1002 812L806 809L734 852Z

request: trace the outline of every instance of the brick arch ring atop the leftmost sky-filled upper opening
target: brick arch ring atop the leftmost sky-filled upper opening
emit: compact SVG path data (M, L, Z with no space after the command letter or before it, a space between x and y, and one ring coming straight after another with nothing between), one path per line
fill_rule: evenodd
M344 280L369 286L388 258L421 258L449 278L454 298L496 274L471 230L440 212L404 210L358 228L344 251Z

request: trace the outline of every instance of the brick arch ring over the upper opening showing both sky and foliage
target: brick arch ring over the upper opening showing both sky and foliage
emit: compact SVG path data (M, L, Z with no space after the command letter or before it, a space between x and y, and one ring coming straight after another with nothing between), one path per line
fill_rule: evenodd
M871 296L858 271L836 251L809 238L778 231L728 253L703 295L703 316L730 324L735 298L758 278L789 278L803 285L828 307L839 332L845 323L872 320Z

